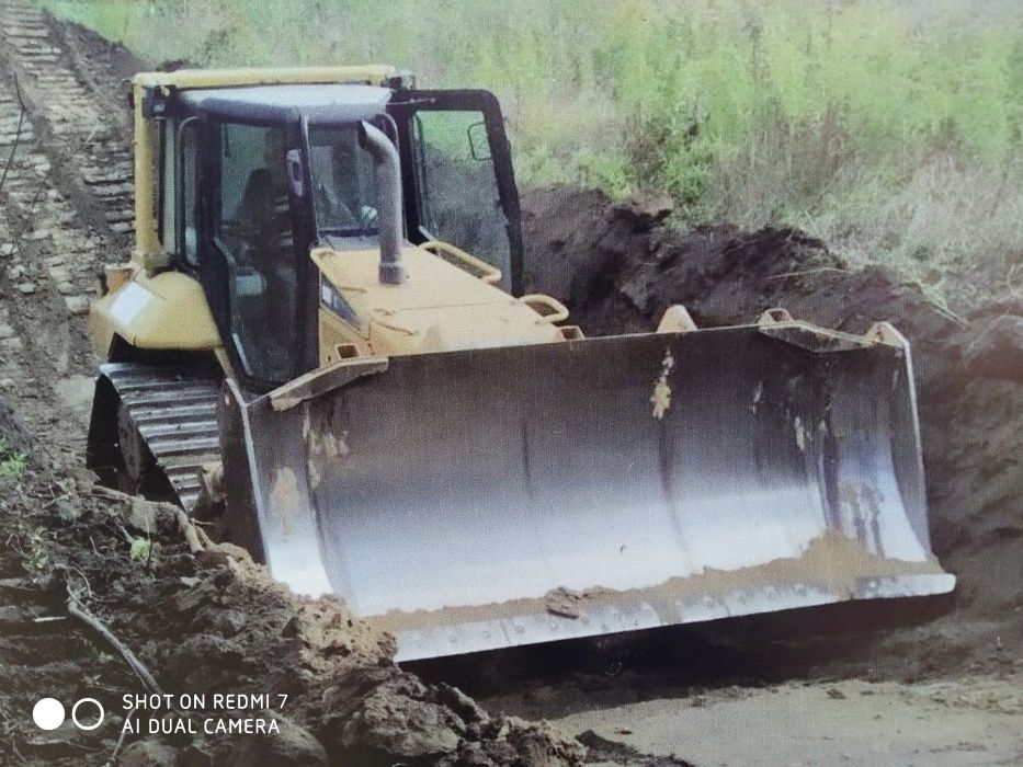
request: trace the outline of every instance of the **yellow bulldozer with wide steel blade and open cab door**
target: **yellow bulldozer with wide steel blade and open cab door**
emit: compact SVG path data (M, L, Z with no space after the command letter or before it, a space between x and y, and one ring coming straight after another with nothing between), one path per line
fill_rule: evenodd
M104 482L192 512L219 477L230 539L399 661L953 589L891 325L673 306L587 337L524 294L484 90L386 66L130 90L135 250L89 316Z

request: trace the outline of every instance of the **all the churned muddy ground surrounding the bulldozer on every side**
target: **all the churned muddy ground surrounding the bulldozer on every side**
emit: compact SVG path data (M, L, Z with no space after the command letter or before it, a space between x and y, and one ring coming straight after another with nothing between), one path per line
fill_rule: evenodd
M0 162L12 169L0 188L3 764L104 764L115 751L135 765L1023 760L1023 307L1012 297L955 317L799 232L682 231L656 199L524 195L530 287L564 298L590 334L649 330L677 302L702 325L775 306L854 332L894 322L913 344L934 548L959 586L925 605L495 653L413 676L343 605L298 599L171 510L93 488L81 465L95 363L81 299L95 267L126 253L116 83L137 62L15 0L0 0ZM288 695L273 711L230 712L275 718L282 734L133 735L118 749L116 719L36 729L27 712L43 695L88 695L123 718L121 696L147 689L89 615L161 690ZM204 718L163 721L202 729Z

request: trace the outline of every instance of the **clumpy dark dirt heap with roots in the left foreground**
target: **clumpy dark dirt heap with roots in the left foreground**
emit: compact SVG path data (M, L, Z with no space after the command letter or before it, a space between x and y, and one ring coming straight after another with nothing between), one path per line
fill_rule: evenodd
M4 423L0 436L24 436L13 419ZM118 496L86 472L39 462L0 482L0 513L10 520L0 541L4 763L103 764L125 717L144 732L125 739L124 765L568 765L584 753L543 723L492 717L457 689L400 671L389 636L338 600L294 596L240 549L204 540L172 506ZM130 649L160 691L207 701L270 695L272 705L126 711L123 695L152 690L69 614L69 602ZM90 732L70 722L37 730L26 712L43 695L95 698L107 720ZM171 732L148 735L161 726L149 720L161 717ZM211 734L207 718L273 719L281 732Z

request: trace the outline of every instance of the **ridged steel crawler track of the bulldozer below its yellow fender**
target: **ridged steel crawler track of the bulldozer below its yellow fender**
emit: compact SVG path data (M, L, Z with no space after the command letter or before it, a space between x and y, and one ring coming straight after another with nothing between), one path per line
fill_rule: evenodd
M216 378L200 371L102 365L89 468L122 490L169 497L194 511L203 467L220 460L219 390Z

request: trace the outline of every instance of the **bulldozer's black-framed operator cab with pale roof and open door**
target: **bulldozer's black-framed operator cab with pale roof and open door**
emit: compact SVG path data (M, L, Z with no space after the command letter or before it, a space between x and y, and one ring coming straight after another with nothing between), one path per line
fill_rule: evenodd
M398 148L405 237L448 242L521 293L519 198L486 91L365 84L184 90L159 121L158 238L198 277L236 374L269 389L318 366L317 245L378 247L363 122Z

